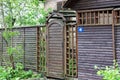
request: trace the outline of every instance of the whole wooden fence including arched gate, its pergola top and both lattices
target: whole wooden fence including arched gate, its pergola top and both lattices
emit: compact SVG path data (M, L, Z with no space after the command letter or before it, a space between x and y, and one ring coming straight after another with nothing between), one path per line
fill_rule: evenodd
M76 15L74 11L51 13L42 26L13 28L20 35L12 38L12 46L20 46L21 54L14 54L15 61L25 69L46 72L47 77L77 77ZM0 65L6 65L9 56L0 29ZM46 49L47 48L47 49Z

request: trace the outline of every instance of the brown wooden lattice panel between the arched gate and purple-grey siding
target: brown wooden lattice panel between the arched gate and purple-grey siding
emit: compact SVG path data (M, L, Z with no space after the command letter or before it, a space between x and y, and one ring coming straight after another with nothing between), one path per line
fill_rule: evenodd
M66 76L77 76L76 26L66 26Z

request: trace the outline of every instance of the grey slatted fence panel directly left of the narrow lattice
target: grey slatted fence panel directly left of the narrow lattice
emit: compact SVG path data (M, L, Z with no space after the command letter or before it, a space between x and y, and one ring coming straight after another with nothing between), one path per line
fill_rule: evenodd
M37 29L25 29L25 68L36 70L37 63Z

